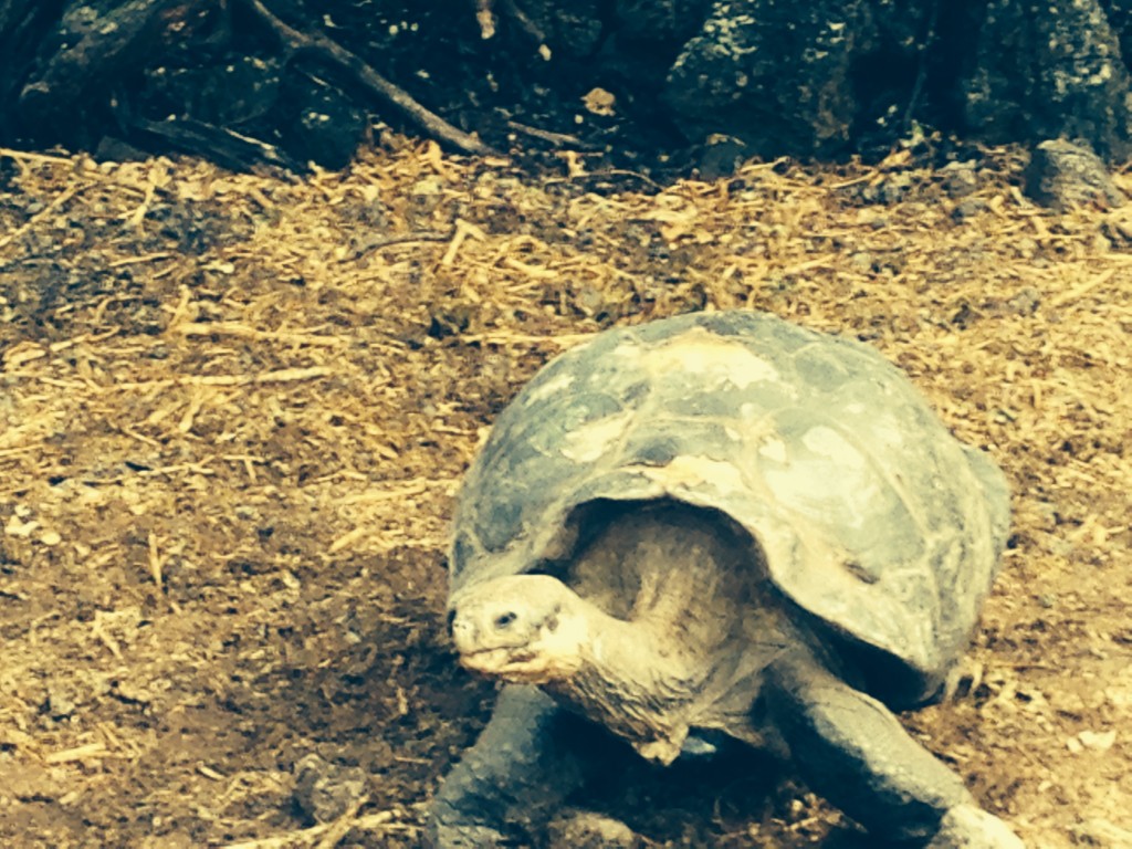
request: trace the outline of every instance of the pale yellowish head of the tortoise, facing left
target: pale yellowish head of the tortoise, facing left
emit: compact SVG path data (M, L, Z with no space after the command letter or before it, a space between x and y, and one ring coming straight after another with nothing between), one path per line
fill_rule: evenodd
M550 575L511 575L457 594L448 623L465 668L509 684L549 684L582 666L584 607Z

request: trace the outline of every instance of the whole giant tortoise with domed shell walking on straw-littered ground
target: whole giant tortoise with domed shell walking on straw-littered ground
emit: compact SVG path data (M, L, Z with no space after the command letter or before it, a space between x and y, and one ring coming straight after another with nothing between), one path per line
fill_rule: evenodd
M1018 849L892 713L963 653L1009 500L858 342L731 311L559 355L458 497L452 635L505 686L432 803L432 843L529 840L609 736L670 764L715 735L789 757L877 839Z

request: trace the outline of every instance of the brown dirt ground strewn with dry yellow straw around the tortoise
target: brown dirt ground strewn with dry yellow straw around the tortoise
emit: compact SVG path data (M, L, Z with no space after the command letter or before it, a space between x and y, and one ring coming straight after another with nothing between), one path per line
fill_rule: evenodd
M1029 846L1132 847L1132 214L1034 206L1009 149L662 189L384 142L302 180L0 155L0 843L419 844L490 707L441 620L486 429L584 334L753 307L1006 470L957 697L906 720ZM649 846L871 846L772 765L602 801Z

